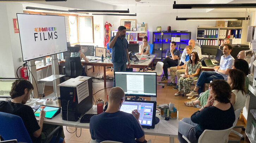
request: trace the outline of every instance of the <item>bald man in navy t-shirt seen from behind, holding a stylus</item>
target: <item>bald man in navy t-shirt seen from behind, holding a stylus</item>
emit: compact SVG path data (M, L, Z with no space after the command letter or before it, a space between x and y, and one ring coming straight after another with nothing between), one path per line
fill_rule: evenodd
M108 109L91 117L91 138L96 141L117 141L122 143L141 143L145 140L144 131L140 125L140 113L137 110L132 114L120 111L124 102L124 91L120 87L113 87L107 95ZM135 141L135 138L137 139Z

